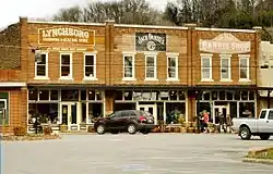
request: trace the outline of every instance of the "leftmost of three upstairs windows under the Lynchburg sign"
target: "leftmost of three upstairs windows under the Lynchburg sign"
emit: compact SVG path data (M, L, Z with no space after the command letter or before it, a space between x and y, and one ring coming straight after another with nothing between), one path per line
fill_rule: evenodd
M48 53L40 53L40 59L35 61L35 77L48 77Z

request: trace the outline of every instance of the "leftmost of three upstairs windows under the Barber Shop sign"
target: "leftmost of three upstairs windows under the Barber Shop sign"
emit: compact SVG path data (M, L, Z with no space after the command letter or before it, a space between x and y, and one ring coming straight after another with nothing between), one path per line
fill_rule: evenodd
M212 55L201 55L201 78L212 80Z

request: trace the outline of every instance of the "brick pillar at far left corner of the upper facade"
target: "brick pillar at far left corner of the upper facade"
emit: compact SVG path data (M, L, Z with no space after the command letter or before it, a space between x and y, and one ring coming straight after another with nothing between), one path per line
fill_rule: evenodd
M28 75L28 45L27 45L27 17L20 17L20 58L21 58L21 76L23 82L27 80Z

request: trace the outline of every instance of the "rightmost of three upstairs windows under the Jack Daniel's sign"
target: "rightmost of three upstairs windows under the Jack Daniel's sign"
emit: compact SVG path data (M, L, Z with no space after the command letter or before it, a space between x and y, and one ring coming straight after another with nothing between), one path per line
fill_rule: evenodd
M178 57L167 57L168 79L178 79Z

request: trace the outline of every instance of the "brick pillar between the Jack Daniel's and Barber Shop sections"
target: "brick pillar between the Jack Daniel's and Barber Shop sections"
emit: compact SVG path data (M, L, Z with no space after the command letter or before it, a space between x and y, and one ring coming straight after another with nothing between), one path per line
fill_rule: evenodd
M187 33L187 84L189 87L189 90L193 87L193 80L194 80L194 58L195 58L195 41L194 41L194 29L197 27L195 24L186 24L186 27L188 27ZM189 122L193 121L194 114L195 114L195 100L193 98L189 98L188 92L188 120Z

